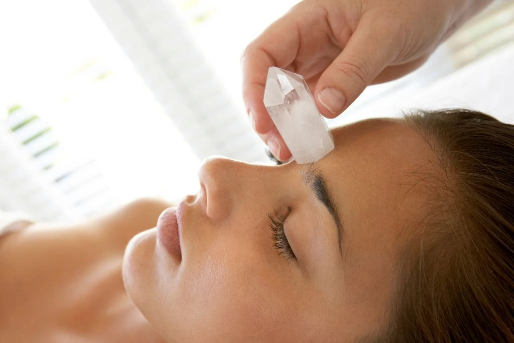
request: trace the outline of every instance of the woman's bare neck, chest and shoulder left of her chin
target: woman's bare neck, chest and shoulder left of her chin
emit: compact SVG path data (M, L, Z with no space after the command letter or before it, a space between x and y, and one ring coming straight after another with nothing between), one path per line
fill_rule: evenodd
M127 296L121 267L128 241L171 205L145 198L0 237L0 341L166 343Z

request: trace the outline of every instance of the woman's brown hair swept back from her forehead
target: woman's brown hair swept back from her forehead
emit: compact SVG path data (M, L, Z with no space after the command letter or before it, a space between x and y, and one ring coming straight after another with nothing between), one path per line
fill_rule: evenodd
M514 125L459 109L404 119L435 152L443 186L375 341L514 342Z

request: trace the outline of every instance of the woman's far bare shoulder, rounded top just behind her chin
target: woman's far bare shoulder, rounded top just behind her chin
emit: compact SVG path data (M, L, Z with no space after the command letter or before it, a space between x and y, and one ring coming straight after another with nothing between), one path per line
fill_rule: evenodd
M162 211L172 206L158 198L140 198L91 221L101 236L124 249L137 233L155 227Z

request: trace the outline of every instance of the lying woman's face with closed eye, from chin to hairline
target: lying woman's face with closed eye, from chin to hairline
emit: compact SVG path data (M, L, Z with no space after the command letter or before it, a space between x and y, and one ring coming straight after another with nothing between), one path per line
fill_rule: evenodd
M415 185L435 158L398 119L332 133L336 149L314 165L206 160L183 203L180 259L155 228L132 239L125 287L164 339L340 342L386 325L401 233L425 212ZM275 211L293 255L273 240Z

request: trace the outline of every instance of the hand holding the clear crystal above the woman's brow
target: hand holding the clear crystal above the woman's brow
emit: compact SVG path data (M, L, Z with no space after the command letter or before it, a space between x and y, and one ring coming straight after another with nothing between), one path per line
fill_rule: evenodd
M337 117L372 83L397 79L492 0L304 0L245 49L243 99L280 160L291 153L264 107L268 68L304 76L321 114Z

